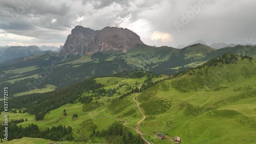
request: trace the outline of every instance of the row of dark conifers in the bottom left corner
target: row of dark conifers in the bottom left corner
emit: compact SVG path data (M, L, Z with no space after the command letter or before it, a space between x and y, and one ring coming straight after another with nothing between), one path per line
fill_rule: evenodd
M4 125L0 125L0 138L4 138ZM47 128L44 131L39 131L37 125L31 124L28 127L17 126L14 122L9 122L8 140L20 139L23 137L45 138L55 141L62 141L66 135L70 135L72 128L70 126L53 126L51 129Z

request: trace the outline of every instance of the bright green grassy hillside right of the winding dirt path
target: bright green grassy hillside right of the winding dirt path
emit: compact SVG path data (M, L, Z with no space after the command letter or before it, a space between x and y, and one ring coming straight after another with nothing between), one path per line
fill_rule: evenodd
M156 111L154 116L147 114L152 118L142 123L142 132L150 134L157 129L180 136L182 143L256 143L255 68L255 61L239 58L237 64L219 62L165 81L167 91L148 89L155 92L146 98L172 101L172 107L164 113ZM141 106L148 103L146 98L143 101L145 92L138 97Z

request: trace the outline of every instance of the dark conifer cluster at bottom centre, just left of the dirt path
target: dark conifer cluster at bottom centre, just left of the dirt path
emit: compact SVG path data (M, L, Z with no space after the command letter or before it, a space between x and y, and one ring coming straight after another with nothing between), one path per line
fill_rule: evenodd
M138 134L134 136L127 128L125 128L120 122L113 123L108 129L101 130L101 131L95 131L93 130L93 133L91 137L104 137L107 140L113 142L113 143L133 143L133 144L140 144L144 143L141 136ZM117 137L117 138L114 138ZM113 141L115 140L115 141Z

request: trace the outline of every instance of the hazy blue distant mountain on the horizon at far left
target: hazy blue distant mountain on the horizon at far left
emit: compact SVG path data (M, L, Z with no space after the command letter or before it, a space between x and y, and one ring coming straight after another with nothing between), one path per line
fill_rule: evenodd
M2 55L0 55L0 63L15 59L15 58L22 58L31 55L36 55L41 53L38 46L11 46L6 49Z

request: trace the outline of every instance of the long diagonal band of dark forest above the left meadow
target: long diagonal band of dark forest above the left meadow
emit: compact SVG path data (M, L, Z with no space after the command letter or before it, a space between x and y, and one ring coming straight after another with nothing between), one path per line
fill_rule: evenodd
M15 108L22 109L25 107L28 110L28 113L35 114L35 119L38 121L43 119L47 112L67 103L74 103L74 101L85 91L101 87L102 84L96 83L96 80L93 78L88 78L83 82L52 92L28 94L23 97L11 98L8 100L8 104L10 110ZM1 109L4 109L3 104L4 103L0 104Z

